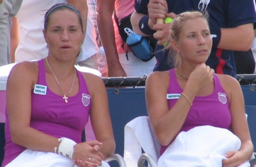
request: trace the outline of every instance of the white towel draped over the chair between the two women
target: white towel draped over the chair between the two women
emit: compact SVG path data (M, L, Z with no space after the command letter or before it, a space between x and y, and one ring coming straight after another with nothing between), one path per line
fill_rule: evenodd
M137 166L142 154L141 148L157 162L160 145L152 133L146 116L137 117L125 125L124 161L127 167Z

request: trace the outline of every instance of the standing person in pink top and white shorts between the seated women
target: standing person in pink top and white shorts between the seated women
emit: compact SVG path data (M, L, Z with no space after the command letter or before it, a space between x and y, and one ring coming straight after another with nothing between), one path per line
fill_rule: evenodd
M143 62L127 46L122 48L123 41L113 15L114 11L118 22L120 22L122 18L129 17L134 12L134 0L97 0L98 31L106 54L108 76L144 76L150 74L156 64L156 59ZM128 51L127 58L125 56L126 49Z

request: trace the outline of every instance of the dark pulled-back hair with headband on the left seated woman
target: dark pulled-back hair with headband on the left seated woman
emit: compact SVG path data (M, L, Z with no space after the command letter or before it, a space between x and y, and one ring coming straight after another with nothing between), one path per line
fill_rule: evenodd
M82 29L82 33L83 33L82 16L81 16L80 12L76 8L74 8L73 6L71 6L69 4L64 4L64 3L55 4L46 12L46 14L45 14L45 22L44 22L44 29L47 30L47 26L48 26L49 19L50 19L49 16L52 13L54 13L55 11L58 11L58 10L65 10L65 9L73 11L73 12L75 12L79 16L79 23L81 25L81 29Z

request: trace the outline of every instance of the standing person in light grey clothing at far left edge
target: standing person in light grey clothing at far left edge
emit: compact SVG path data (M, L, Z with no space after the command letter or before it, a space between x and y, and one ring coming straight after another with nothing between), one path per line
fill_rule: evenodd
M12 17L15 16L23 0L0 1L0 66L11 63L10 30Z

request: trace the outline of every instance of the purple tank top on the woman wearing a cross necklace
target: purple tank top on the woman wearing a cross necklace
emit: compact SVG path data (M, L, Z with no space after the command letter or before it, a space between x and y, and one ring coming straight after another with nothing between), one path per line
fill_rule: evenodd
M67 137L81 142L82 131L88 122L92 101L81 72L77 71L79 91L75 96L68 97L68 103L63 96L53 93L46 82L44 60L38 61L38 81L31 90L31 120L30 126L55 137ZM35 92L35 93L34 93ZM5 124L5 157L3 166L11 162L26 148L16 145L11 140L9 119L6 111Z

